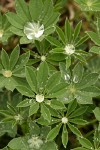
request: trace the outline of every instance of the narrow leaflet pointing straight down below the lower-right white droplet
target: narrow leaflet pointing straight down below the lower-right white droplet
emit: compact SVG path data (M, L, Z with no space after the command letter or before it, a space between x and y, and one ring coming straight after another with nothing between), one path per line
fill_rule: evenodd
M66 148L68 143L68 131L66 128L66 125L63 126L63 131L62 131L62 144Z

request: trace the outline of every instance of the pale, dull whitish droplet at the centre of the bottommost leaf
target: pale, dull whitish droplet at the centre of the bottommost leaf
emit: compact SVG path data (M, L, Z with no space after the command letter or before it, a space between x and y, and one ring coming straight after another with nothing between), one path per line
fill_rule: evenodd
M41 145L43 144L43 141L38 136L33 136L31 139L28 140L28 144L30 148L39 149Z

